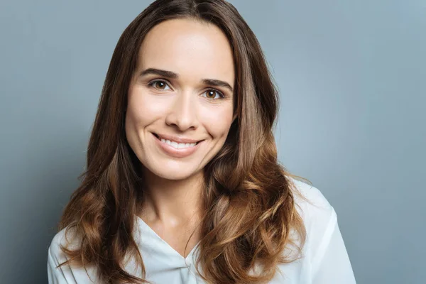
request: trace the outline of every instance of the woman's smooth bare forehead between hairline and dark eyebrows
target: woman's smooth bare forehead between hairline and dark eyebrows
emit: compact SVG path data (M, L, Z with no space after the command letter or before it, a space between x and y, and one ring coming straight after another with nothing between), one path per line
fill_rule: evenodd
M187 79L212 78L234 85L234 60L226 35L213 24L173 19L154 26L138 53L138 70L158 68Z

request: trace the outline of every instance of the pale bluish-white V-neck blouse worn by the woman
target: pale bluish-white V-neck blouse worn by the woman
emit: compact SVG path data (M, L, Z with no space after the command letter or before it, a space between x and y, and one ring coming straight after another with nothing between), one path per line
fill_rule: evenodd
M297 190L305 195L315 205L301 200L295 195L295 202L299 206L307 229L307 240L302 248L303 258L293 263L280 264L279 270L270 284L333 284L356 283L351 268L348 253L339 231L337 214L324 195L316 187L293 181ZM146 268L146 280L155 284L192 284L205 283L195 271L198 244L190 251L186 258L175 251L168 243L158 236L146 222L136 217L136 230L133 236L143 257ZM55 268L67 259L59 248L59 244L77 246L68 235L65 241L65 229L56 234L48 249L48 283L102 283L96 276L96 268L62 266ZM131 259L126 260L126 271L141 277L141 268ZM200 271L201 268L200 268ZM251 271L256 273L256 271Z

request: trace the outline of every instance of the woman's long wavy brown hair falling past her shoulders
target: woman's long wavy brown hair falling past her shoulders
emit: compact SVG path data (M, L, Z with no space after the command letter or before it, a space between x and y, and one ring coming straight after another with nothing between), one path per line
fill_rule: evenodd
M204 168L202 257L195 267L208 283L263 283L273 278L278 263L301 257L306 231L288 176L300 177L277 160L278 92L258 40L234 6L222 0L154 1L119 38L89 139L87 169L60 221L60 230L72 228L81 237L75 250L61 246L69 256L65 263L94 265L105 283L148 283L123 268L130 253L146 275L131 234L143 199L143 165L126 141L124 118L138 49L153 26L173 18L221 28L236 70L237 118L224 146ZM284 253L292 245L298 257ZM249 273L255 264L262 270Z

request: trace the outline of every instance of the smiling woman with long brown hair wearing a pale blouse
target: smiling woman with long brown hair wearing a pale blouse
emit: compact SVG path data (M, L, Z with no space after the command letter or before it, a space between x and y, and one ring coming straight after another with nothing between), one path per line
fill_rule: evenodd
M277 108L231 4L153 2L111 58L49 283L355 283L333 207L278 164Z

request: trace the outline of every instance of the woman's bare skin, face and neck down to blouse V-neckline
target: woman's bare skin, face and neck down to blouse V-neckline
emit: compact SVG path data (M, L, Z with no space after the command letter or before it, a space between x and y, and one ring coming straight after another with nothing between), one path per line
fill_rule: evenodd
M235 119L232 56L217 26L165 21L143 41L129 86L126 137L147 184L138 216L183 257L200 241L202 170L224 145ZM161 135L202 142L193 153L178 156L188 149L168 153L164 149L171 146L161 144Z

